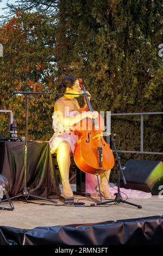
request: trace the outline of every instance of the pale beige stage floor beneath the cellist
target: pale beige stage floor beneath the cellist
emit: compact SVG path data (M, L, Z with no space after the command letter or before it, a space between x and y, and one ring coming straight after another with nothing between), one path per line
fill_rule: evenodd
M89 207L91 203L84 197L74 196L75 202L84 202L85 206L64 205L58 200L57 206L51 202L30 200L12 201L13 211L0 210L0 226L33 229L35 227L52 227L58 225L97 223L112 220L143 218L163 215L163 198L152 196L150 199L128 199L128 202L142 205L142 209L128 204L100 205ZM36 203L36 204L34 204ZM47 205L45 205L47 204ZM4 206L0 204L0 206Z

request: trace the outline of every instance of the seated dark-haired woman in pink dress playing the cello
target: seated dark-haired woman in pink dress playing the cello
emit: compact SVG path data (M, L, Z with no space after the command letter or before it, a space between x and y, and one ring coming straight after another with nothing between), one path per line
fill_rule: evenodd
M64 77L58 87L58 92L60 93L79 94L80 90L79 80L73 76ZM89 94L89 92L87 93ZM84 113L78 112L80 106L77 99L75 99L75 97L78 96L79 95L64 94L55 102L52 117L54 135L49 141L51 153L57 153L57 162L62 179L63 194L66 197L73 196L69 183L70 154L71 152L74 153L74 144L78 141L78 136L73 125L86 117L91 119L98 117L97 111L87 111ZM109 175L110 170L106 170L105 174L101 175L100 188L105 198L112 199L115 197L112 197L109 191Z

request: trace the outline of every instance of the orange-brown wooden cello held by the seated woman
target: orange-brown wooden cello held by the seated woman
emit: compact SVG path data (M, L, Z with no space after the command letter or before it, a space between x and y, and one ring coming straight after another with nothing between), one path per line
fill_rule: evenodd
M79 78L80 88L86 92ZM84 96L87 103L86 108L78 109L83 111L93 111L87 96ZM115 159L110 149L110 145L103 138L104 120L98 114L97 118L84 118L79 123L74 124L74 130L78 135L78 141L74 144L74 162L80 170L89 174L101 175L105 170L114 167Z

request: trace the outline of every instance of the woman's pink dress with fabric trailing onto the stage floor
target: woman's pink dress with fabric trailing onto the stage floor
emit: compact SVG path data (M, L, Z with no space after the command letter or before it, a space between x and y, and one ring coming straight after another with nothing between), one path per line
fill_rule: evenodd
M78 111L71 111L68 113L69 117L73 117L73 115L76 115ZM64 126L59 119L57 113L54 111L53 115L53 130L54 134L52 138L49 140L50 148L51 148L51 154L55 153L55 150L58 148L58 145L62 141L67 141L70 143L72 153L74 153L74 144L78 141L78 135L76 135L74 129L72 126ZM100 182L100 176L99 176L99 182ZM97 185L97 177L96 175L87 174L86 173L86 193L96 194L96 185ZM114 188L109 187L109 191L112 195L116 193L116 186ZM121 188L121 196L123 199L126 198L126 195L128 198L139 198L139 199L146 199L151 198L151 193L146 193L143 191L138 190L127 190L126 188Z

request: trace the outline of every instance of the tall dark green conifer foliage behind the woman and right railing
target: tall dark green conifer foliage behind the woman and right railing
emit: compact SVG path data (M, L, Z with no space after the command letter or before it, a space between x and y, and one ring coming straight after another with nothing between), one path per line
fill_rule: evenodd
M59 75L83 77L98 111L162 111L161 1L68 0L59 10ZM161 120L145 116L144 151L162 151ZM139 116L112 118L111 125L120 149L140 151Z

